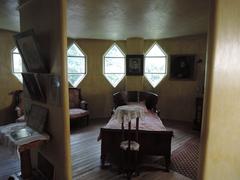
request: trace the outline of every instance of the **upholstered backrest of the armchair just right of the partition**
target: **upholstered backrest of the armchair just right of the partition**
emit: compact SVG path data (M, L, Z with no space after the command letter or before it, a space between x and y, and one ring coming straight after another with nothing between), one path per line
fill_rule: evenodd
M69 88L69 108L79 108L81 100L81 89Z

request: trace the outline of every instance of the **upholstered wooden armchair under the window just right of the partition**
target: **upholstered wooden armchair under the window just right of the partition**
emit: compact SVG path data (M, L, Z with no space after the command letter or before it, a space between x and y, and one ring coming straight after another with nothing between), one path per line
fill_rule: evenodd
M70 121L86 120L89 124L88 103L82 99L81 89L69 88Z

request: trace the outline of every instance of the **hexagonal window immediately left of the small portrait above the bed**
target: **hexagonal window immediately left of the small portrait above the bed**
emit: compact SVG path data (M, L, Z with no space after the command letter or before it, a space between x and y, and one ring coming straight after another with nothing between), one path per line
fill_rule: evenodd
M113 87L125 76L125 54L113 44L103 56L103 74Z

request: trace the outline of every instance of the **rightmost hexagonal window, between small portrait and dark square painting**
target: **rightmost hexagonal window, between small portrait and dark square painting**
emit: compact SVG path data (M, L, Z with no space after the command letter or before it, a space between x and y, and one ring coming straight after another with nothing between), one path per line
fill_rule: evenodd
M145 54L144 76L155 88L166 74L167 55L157 43L154 43Z

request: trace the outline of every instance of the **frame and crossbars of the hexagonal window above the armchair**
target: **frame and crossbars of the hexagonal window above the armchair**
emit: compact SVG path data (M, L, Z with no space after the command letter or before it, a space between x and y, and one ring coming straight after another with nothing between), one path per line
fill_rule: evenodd
M85 66L84 66L84 73L69 73L68 71L68 76L69 75L83 75L82 79L76 81L74 84L72 84L70 81L69 81L69 78L68 78L68 82L73 86L73 87L77 87L81 82L82 80L85 78L85 76L87 75L87 55L85 54L85 52L79 47L79 45L75 42L73 42L69 48L67 49L67 52L68 50L73 46L77 46L77 48L81 51L81 53L83 54L83 56L73 56L73 55L68 55L67 53L67 70L68 70L68 58L69 57L72 57L72 58L84 58L84 63L85 63ZM76 84L76 85L75 85Z

